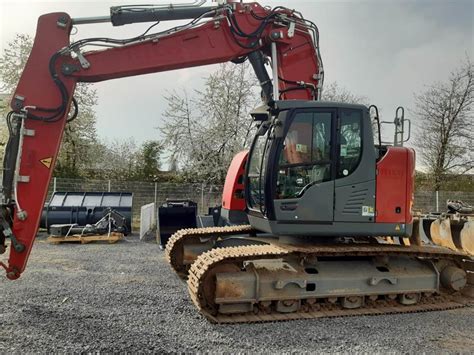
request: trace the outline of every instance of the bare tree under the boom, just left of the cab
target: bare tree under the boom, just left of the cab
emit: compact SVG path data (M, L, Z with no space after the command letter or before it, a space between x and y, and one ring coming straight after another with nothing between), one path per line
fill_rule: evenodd
M187 181L220 184L233 156L248 148L253 137L249 111L260 95L250 65L221 64L190 96L170 93L165 123L160 128L168 148L170 166Z

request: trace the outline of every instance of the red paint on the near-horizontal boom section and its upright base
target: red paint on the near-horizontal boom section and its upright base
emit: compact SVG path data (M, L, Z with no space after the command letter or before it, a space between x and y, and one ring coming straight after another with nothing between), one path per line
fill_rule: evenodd
M265 16L268 10L257 3L235 3L238 9L235 18L239 27L246 33L254 32L260 25L249 9ZM289 15L287 11L283 11ZM292 38L287 37L287 28L269 24L261 36L258 48L271 56L270 33L278 32L283 37L276 40L278 57L278 74L280 78L290 81L304 81L317 86L319 66L316 50L311 36L306 30L295 31ZM244 45L252 40L238 37ZM254 41L255 39L253 39ZM201 25L200 27L181 31L158 41L147 41L111 48L102 51L86 53L84 57L90 62L90 68L79 70L72 74L83 82L98 82L103 80L123 78L146 73L156 73L180 68L223 63L244 56L255 49L246 49L235 43L227 19L220 19ZM69 60L77 64L77 60ZM279 82L280 90L293 84ZM308 90L289 91L282 94L281 99L312 100L312 92Z

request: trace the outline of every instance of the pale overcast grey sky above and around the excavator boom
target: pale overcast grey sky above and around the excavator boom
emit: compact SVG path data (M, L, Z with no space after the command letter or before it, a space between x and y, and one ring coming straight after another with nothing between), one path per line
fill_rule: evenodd
M168 3L149 1L148 3ZM109 7L143 0L2 1L0 50L16 33L34 36L38 16L64 11L71 17L102 16ZM147 1L145 1L147 3ZM445 80L469 55L474 58L474 1L270 1L262 5L295 8L317 24L326 81L337 81L355 94L366 96L392 120L395 108L413 108L413 93ZM164 22L158 29L172 27ZM128 38L148 24L112 27L79 26L74 39L91 36ZM137 142L159 139L167 90L200 88L213 66L111 80L97 83L97 128L101 137L129 138Z

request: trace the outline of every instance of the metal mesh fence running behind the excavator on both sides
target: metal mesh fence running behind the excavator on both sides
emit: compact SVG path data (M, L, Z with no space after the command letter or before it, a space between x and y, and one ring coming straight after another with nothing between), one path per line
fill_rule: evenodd
M140 208L149 203L157 206L171 199L189 199L198 204L198 213L206 214L209 207L221 204L223 186L206 184L173 184L116 180L78 180L54 178L51 181L48 200L53 191L108 191L133 193L133 225L140 225ZM464 191L416 191L414 208L423 212L446 210L446 200L458 199L474 205L474 192Z

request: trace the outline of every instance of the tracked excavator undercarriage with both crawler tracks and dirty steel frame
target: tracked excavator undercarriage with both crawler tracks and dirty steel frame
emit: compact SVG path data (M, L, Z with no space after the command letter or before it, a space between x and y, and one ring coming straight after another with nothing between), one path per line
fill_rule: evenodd
M232 226L179 231L166 257L218 323L444 310L474 296L472 258L442 247L290 245Z

